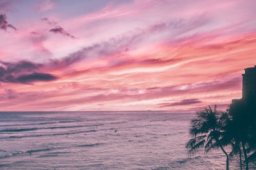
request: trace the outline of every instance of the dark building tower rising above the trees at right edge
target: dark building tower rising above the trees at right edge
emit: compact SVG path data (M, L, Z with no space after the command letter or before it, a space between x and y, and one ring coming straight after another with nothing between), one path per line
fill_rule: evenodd
M242 99L256 98L256 65L244 70Z

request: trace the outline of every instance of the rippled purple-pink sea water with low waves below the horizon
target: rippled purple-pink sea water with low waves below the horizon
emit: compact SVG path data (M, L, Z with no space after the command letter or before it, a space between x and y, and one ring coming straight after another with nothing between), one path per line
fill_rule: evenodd
M221 151L188 156L185 143L195 114L2 112L0 116L0 169L225 169ZM234 164L230 169L236 169Z

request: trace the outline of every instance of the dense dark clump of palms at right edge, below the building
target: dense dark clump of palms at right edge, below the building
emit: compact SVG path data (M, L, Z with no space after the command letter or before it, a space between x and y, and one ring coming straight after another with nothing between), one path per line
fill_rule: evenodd
M225 123L222 126L221 140L223 144L231 145L230 159L239 154L240 169L242 169L242 156L248 170L249 161L256 155L255 106L256 99L254 98L233 100L227 113L223 114ZM248 156L250 153L252 154Z

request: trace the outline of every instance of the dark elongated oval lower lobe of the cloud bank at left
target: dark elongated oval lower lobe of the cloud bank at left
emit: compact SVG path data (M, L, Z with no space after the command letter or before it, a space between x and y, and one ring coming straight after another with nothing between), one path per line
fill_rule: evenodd
M29 75L21 75L16 78L16 80L20 83L30 83L34 81L53 81L56 80L57 77L51 74L45 74L40 72L33 72Z

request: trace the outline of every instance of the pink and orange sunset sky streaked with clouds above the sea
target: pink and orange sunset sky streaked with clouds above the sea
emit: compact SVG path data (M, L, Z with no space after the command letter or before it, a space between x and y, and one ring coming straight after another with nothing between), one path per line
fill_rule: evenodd
M0 110L226 109L256 65L255 7L0 0Z

